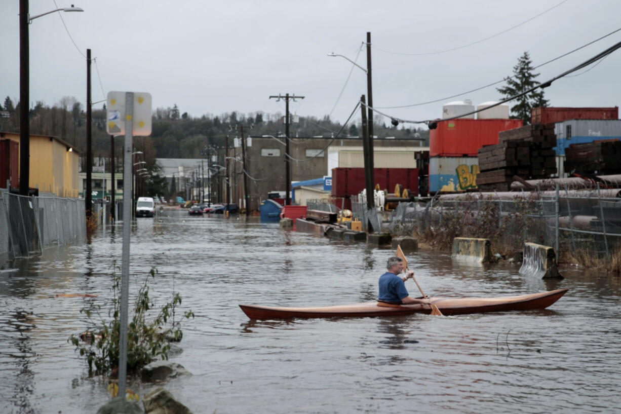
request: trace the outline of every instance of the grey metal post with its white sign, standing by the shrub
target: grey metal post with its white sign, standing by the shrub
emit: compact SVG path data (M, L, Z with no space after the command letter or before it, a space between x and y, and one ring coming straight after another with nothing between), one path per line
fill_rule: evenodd
M151 134L151 95L112 91L107 96L106 130L125 135L123 149L123 249L120 279L119 395L127 387L127 321L129 320L129 243L132 226L132 137Z

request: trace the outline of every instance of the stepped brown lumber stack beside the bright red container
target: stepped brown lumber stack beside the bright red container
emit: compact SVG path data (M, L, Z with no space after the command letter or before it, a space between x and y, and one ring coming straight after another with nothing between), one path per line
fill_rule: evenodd
M509 191L514 175L549 178L556 173L554 124L532 124L498 134L499 144L479 149L481 190Z

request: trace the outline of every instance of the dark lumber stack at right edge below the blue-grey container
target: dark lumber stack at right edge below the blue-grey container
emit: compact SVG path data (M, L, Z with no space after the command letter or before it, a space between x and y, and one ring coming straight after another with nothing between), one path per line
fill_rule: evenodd
M565 171L579 175L621 173L621 141L602 139L565 149Z

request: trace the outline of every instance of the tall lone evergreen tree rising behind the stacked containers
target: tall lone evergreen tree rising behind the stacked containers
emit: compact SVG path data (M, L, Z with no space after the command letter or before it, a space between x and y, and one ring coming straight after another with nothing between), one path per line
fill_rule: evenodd
M513 73L512 77L505 78L507 82L505 86L496 89L503 95L503 99L523 93L540 84L539 81L535 80L539 73L533 73L532 61L528 52L524 52L524 55L517 60L517 65L513 67ZM543 98L542 89L517 98L515 105L511 107L511 118L522 119L525 125L530 124L530 110L537 106L548 106L548 101Z

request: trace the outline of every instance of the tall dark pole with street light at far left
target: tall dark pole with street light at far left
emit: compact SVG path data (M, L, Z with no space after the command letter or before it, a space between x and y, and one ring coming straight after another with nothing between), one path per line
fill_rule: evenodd
M28 1L19 2L19 194L28 195L30 188L30 125L28 105L30 102L30 59L28 25L34 19L57 11L83 11L79 7L56 9L30 16Z

